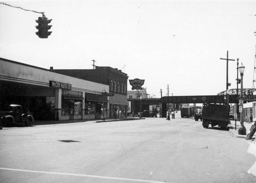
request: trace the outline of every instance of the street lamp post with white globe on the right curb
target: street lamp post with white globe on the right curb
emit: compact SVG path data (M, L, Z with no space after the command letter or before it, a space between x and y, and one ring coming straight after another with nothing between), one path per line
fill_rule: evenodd
M244 76L244 69L245 66L243 66L243 64L241 63L241 66L239 66L239 72L240 72L240 76L241 76L241 92L240 92L240 126L238 128L238 135L246 135L246 128L244 127L244 114L243 114L243 76ZM242 108L242 110L241 110Z

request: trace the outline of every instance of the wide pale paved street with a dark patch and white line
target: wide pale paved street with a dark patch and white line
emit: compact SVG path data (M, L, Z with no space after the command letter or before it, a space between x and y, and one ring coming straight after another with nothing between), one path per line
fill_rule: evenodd
M0 182L255 183L248 147L179 116L4 128Z

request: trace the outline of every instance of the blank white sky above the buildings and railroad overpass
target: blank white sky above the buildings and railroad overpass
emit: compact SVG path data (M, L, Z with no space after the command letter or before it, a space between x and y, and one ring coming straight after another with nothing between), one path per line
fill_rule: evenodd
M252 87L256 1L4 1L45 12L52 34L35 34L41 14L0 4L0 57L50 69L111 66L145 79L149 94L216 95L226 89L227 50ZM229 61L229 88L236 88ZM125 68L123 68L125 66ZM129 83L129 82L128 82ZM240 87L240 86L239 86ZM128 90L131 90L128 84Z

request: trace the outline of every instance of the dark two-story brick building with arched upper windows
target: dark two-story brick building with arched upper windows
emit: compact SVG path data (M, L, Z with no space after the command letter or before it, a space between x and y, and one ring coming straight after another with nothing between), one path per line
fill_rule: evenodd
M96 66L95 69L53 69L52 72L73 76L76 78L86 79L93 82L99 82L107 85L108 106L106 109L107 117L113 118L114 113L119 117L127 117L127 80L128 75L122 70L111 67ZM89 103L88 103L89 105ZM86 109L86 108L85 108Z

